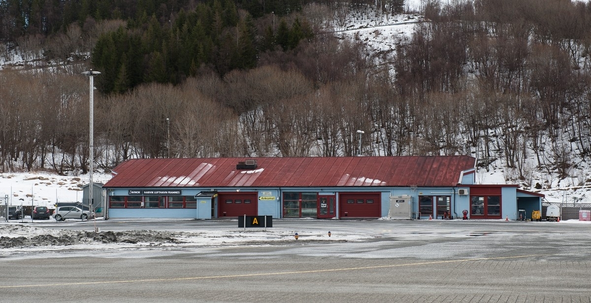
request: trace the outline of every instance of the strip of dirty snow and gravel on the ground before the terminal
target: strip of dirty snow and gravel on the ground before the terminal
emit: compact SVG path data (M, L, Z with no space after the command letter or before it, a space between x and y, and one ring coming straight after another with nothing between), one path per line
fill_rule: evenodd
M63 251L64 249L166 248L173 246L284 245L294 241L291 230L218 229L205 232L166 230L124 230L89 232L47 229L24 224L0 225L0 256L27 251ZM362 241L367 236L349 235L328 238L306 235L300 242Z

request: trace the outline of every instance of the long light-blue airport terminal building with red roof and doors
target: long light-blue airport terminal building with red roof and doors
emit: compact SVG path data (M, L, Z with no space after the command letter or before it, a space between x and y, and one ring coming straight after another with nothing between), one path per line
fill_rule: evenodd
M469 156L134 159L113 169L109 218L518 219L543 195L476 185Z

